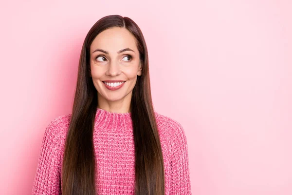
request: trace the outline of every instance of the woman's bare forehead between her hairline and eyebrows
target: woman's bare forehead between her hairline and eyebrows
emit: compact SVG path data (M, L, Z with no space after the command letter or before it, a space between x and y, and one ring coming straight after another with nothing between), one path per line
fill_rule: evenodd
M90 53L97 48L116 53L127 47L138 52L136 38L126 28L112 27L102 31L93 39Z

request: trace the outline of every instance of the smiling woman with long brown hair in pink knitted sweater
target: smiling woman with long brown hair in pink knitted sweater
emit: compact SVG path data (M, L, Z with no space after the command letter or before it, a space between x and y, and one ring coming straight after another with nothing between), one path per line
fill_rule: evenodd
M46 128L33 195L190 195L181 124L154 111L146 42L128 17L87 34L72 114Z

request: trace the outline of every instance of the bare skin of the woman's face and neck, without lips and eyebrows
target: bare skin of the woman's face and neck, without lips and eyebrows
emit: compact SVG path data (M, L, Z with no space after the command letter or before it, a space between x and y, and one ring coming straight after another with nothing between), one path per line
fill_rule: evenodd
M125 48L133 51L117 53ZM95 51L96 49L102 49L109 54ZM91 78L97 90L97 107L112 113L129 113L137 76L142 74L136 38L126 28L112 27L95 37L91 43L90 55ZM102 80L112 79L126 82L122 88L111 91Z

